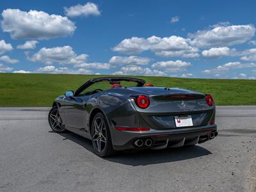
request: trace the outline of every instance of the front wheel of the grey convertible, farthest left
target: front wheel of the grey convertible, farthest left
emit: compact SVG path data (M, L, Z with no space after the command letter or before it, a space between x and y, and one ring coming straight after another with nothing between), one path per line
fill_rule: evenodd
M58 133L67 132L67 130L65 129L65 125L63 125L63 122L61 120L59 109L57 106L54 106L49 111L48 122L52 131Z

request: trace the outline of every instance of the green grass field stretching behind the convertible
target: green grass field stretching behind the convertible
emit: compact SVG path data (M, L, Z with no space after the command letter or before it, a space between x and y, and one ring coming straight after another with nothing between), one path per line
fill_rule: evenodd
M51 106L67 90L93 77L67 74L0 74L0 106ZM155 86L211 93L217 105L255 105L256 80L140 77ZM108 84L109 87L109 84Z

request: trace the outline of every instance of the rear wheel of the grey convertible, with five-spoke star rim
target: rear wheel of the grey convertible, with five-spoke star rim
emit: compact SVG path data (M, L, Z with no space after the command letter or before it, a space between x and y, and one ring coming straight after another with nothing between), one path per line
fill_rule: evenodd
M93 117L91 125L92 145L97 156L108 157L114 152L108 122L102 113Z

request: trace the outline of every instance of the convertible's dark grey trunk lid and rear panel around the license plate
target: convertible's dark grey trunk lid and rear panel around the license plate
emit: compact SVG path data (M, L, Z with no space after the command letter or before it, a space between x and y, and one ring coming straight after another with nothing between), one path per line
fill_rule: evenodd
M133 100L134 108L153 129L174 129L175 116L191 116L193 126L207 125L214 118L215 106L209 106L205 94L180 88L131 88L138 95L147 95L150 105L141 109ZM131 95L136 96L137 93Z

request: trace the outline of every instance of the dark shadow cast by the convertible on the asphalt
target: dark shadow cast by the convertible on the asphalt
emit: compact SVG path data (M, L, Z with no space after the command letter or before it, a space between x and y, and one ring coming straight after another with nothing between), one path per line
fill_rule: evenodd
M70 140L93 153L92 141L87 140L72 132L60 133L63 140ZM140 150L129 152L116 152L111 157L104 158L106 161L113 163L127 164L130 166L141 166L148 164L168 163L175 161L183 161L186 159L194 159L197 157L207 156L212 154L209 150L200 145L166 148L162 150ZM96 155L95 155L96 156Z

